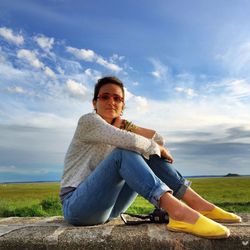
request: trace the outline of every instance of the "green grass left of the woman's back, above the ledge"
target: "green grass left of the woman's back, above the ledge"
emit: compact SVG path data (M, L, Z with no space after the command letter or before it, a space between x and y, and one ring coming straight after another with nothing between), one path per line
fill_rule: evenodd
M62 215L59 188L57 182L0 184L0 217Z

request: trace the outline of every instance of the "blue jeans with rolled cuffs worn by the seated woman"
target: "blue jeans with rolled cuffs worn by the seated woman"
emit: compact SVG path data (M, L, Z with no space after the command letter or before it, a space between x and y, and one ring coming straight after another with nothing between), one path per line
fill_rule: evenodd
M114 149L63 201L64 218L73 225L105 223L125 212L139 193L155 206L165 192L181 198L186 180L164 159L149 160Z

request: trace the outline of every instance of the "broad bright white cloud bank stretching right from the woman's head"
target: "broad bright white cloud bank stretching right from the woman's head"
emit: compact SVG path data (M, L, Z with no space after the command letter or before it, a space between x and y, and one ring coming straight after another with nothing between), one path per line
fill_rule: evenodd
M179 90L193 94L192 91ZM125 118L143 127L163 132L167 137L175 133L170 139L172 142L186 139L176 134L176 131L212 131L219 138L221 131L227 128L250 127L249 103L238 102L227 93L221 96L208 93L207 96L198 95L193 99L177 96L174 99L159 101L140 99L129 91L125 93Z

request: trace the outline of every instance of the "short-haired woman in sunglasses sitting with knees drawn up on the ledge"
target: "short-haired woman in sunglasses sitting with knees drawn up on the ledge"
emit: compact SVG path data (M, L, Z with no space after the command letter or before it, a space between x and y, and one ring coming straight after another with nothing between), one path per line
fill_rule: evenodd
M122 82L99 79L95 112L79 119L65 157L60 193L65 219L73 225L105 223L126 211L139 193L169 214L169 230L227 238L229 229L215 221L241 218L192 190L172 167L163 138L121 118L124 105Z

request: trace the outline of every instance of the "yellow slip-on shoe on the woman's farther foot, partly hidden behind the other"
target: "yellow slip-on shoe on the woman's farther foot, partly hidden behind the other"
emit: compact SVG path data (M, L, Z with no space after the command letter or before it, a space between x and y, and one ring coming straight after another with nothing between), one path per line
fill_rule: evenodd
M240 216L226 212L225 210L215 207L211 211L199 211L202 215L206 216L209 219L218 221L218 222L229 222L229 223L237 223L241 222L242 219Z

